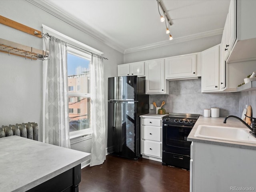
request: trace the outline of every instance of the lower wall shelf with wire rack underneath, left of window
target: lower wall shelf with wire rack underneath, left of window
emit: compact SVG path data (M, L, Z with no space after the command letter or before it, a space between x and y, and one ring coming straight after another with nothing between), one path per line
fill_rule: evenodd
M49 56L48 51L39 50L15 42L0 38L0 52L21 56L32 60L46 60Z

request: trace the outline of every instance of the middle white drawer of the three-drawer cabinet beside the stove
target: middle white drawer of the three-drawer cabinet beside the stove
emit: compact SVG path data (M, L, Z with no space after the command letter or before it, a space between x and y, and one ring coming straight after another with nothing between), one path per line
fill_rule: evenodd
M153 141L162 141L162 127L142 126L141 138Z

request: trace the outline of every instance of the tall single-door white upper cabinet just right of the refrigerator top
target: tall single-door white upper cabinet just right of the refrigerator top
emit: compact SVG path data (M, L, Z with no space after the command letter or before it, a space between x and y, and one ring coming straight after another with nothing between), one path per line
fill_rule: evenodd
M146 94L169 94L169 82L164 77L164 59L145 62Z

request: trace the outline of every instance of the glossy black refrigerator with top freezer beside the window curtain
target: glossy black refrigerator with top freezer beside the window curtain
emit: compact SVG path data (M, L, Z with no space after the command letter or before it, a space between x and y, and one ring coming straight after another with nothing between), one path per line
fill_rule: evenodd
M149 112L145 78L108 78L108 152L125 158L140 157L140 115Z

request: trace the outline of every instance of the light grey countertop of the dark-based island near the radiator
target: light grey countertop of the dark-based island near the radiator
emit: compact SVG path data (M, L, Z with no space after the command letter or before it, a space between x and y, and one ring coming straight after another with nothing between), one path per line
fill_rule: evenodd
M90 159L90 153L35 140L0 138L0 191L23 192Z

